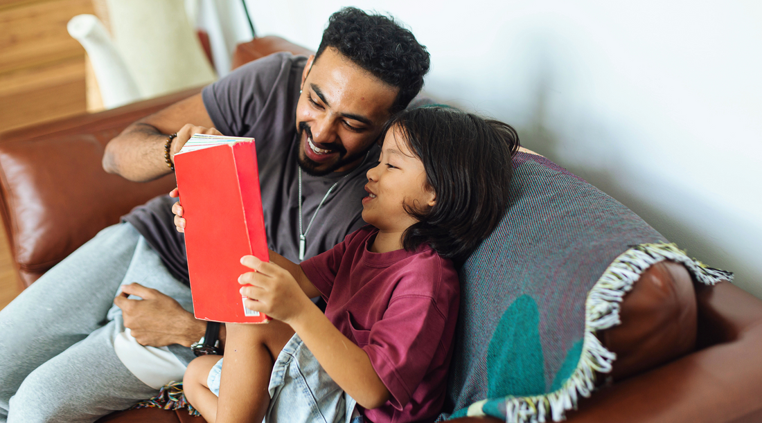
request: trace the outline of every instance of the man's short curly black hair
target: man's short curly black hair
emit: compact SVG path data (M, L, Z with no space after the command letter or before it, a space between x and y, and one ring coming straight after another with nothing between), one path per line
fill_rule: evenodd
M389 85L399 87L392 114L402 111L424 86L430 60L425 46L410 32L382 14L342 8L328 19L315 60L333 47Z

